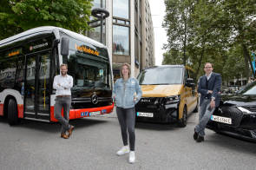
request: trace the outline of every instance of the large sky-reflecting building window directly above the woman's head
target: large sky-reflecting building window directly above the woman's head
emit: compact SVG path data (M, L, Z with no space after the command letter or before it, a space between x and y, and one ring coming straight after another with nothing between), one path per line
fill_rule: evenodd
M129 28L113 25L113 54L129 56Z

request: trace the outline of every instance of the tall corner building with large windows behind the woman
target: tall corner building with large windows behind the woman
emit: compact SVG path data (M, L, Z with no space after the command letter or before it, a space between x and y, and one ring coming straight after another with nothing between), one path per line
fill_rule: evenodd
M131 75L154 66L154 28L148 0L95 0L93 8L109 12L103 21L102 43L112 56L113 75L119 77L123 62L131 64ZM100 42L101 21L93 16L87 36Z

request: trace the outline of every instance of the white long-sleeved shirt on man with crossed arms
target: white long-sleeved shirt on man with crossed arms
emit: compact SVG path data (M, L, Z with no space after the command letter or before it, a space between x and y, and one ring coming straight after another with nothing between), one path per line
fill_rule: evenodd
M70 88L73 87L73 77L70 75L56 75L53 81L53 88L57 95L71 95Z

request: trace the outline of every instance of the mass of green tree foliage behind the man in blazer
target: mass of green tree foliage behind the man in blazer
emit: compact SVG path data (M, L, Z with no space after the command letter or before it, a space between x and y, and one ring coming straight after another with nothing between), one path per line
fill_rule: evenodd
M165 3L167 15L163 26L167 29L168 43L163 64L184 60L181 54L186 54L186 64L196 70L197 77L203 74L205 62L212 62L214 71L226 80L251 75L250 54L256 51L254 0L165 0ZM184 6L187 8L181 8ZM184 13L186 20L181 19ZM186 43L182 43L183 37L187 37ZM174 53L174 49L178 51Z

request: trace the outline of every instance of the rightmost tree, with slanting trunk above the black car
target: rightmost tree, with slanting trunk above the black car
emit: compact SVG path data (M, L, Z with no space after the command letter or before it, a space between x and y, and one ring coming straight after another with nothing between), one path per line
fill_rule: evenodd
M256 3L253 0L225 0L220 1L220 7L225 12L226 25L231 28L233 32L233 43L240 43L243 49L243 56L246 63L246 77L250 75L248 63L250 63L251 70L253 65L250 59L248 47L252 44L251 39L255 40L256 32L253 28L253 18L256 17ZM251 45L255 50L254 45ZM251 49L251 50L253 50ZM252 71L253 73L253 71ZM255 77L254 73L253 76Z

